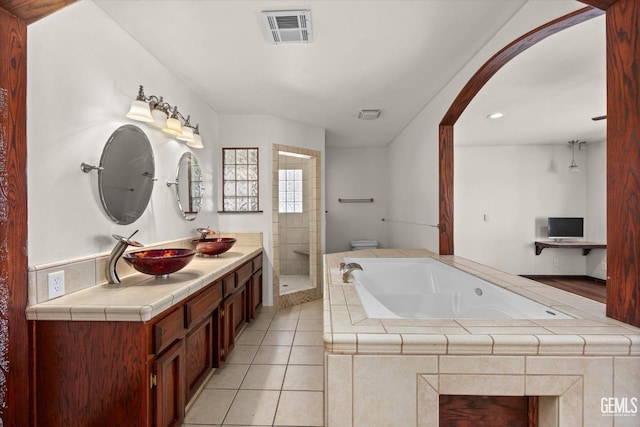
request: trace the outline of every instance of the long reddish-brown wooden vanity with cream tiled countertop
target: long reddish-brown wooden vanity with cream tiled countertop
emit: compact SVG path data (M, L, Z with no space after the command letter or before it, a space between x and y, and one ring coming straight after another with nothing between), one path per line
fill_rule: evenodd
M30 306L35 425L180 426L262 304L262 248Z

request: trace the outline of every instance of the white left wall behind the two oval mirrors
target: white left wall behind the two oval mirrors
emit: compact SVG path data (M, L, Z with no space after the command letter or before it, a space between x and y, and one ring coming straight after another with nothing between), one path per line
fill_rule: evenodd
M27 156L29 263L68 260L110 251L111 234L144 244L196 235L195 227L217 226L214 189L218 178L218 116L198 96L91 2L77 2L28 28ZM138 85L163 95L192 123L200 124L205 149L183 143L125 117ZM96 172L102 149L119 126L136 124L149 137L156 162L153 194L133 224L121 226L105 215ZM181 154L193 151L202 165L207 199L198 220L179 214L174 188Z

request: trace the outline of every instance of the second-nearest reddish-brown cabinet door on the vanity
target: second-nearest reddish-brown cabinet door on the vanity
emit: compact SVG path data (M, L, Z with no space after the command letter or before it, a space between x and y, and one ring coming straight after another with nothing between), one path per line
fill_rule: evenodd
M211 315L192 328L186 338L187 402L213 368L213 318Z

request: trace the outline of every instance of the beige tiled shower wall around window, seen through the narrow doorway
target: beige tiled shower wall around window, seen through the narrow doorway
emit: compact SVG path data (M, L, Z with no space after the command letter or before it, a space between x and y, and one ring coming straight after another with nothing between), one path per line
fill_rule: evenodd
M278 214L280 274L309 274L309 161L280 156L280 169L302 169L302 213Z

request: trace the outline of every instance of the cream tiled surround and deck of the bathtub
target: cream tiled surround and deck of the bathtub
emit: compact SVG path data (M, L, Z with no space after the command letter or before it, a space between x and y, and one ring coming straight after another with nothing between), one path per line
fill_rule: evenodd
M540 396L541 427L640 425L602 410L640 398L640 329L604 304L456 256L379 249L358 257L432 256L574 319L371 319L337 270L350 255L324 260L327 426L438 425L440 394Z

